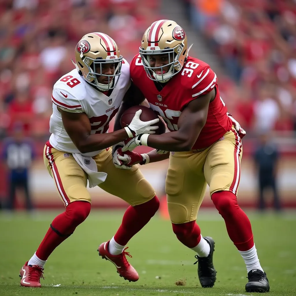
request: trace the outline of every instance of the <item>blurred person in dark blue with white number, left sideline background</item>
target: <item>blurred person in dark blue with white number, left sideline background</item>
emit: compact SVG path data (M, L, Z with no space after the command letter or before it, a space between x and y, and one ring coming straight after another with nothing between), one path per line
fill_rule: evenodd
M8 198L6 209L15 209L17 189L22 189L25 196L25 207L33 210L29 188L29 173L32 160L35 157L34 146L30 138L24 136L24 128L21 123L16 123L12 137L3 142L2 161L6 166L8 184Z

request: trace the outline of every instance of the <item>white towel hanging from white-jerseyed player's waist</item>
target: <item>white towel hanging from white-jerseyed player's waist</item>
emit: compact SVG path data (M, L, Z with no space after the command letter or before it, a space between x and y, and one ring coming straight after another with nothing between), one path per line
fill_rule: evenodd
M86 172L89 180L89 188L97 186L106 180L107 174L98 172L96 162L91 157L82 156L79 153L73 153L72 155L81 168Z

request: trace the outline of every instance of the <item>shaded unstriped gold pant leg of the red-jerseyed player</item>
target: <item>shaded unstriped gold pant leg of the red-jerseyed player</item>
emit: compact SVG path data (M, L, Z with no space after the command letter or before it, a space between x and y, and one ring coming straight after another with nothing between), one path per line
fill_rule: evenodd
M203 152L171 152L165 192L172 223L196 220L207 185L204 161Z

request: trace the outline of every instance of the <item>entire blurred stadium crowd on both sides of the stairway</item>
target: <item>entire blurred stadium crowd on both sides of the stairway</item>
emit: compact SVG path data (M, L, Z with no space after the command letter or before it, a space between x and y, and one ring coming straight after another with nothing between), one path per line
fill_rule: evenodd
M248 131L296 130L296 0L180 0L221 58L221 96ZM20 123L47 140L55 81L88 32L112 36L128 61L159 14L149 0L1 0L0 139ZM198 46L195 44L195 46ZM293 135L293 134L292 134Z

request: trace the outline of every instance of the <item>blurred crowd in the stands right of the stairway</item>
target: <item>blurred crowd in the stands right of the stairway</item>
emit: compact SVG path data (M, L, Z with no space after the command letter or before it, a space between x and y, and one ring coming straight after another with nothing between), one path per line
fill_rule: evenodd
M296 0L183 2L227 70L218 77L221 96L241 125L294 136Z

